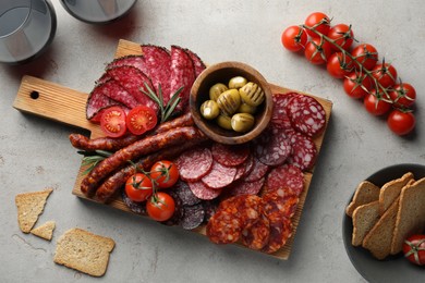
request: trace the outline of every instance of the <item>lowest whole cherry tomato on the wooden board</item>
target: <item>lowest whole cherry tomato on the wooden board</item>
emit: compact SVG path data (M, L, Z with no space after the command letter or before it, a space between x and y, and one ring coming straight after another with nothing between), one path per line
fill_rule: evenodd
M174 199L169 194L159 192L146 202L146 210L156 221L169 220L175 210Z

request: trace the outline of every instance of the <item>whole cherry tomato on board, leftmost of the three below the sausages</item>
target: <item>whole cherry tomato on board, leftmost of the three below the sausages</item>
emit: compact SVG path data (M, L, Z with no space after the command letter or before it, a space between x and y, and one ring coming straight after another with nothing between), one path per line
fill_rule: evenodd
M125 182L125 194L133 201L145 201L151 196L151 181L143 173L136 173Z

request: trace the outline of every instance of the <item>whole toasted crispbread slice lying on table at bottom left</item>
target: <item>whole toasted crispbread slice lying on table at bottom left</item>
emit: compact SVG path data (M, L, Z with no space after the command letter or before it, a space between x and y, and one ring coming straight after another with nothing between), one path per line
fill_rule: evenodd
M54 262L93 276L102 276L116 243L82 229L66 231L57 243Z

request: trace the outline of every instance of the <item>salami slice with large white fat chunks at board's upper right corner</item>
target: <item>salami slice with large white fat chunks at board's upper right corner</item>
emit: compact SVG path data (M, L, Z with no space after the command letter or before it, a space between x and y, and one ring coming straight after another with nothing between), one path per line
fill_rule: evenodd
M295 97L288 103L287 113L292 126L307 136L314 136L325 128L325 109L313 97Z

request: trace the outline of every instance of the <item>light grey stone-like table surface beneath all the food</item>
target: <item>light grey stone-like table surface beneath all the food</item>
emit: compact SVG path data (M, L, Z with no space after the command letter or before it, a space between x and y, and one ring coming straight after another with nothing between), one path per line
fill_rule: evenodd
M58 30L38 60L0 65L0 282L364 282L342 241L342 217L359 182L397 163L425 163L425 7L396 1L145 1L123 20L93 26L70 16L53 0ZM374 45L404 82L417 90L415 134L393 135L384 120L350 99L324 67L283 50L280 35L314 11L348 23L359 40ZM22 75L90 91L118 39L180 45L208 63L242 61L271 83L333 102L320 157L296 231L292 254L278 260L168 227L71 194L81 156L69 143L81 130L33 115L12 104ZM51 243L23 234L19 193L53 187L39 222L56 220ZM117 246L105 276L90 278L53 263L56 241L78 226L112 237ZM409 281L409 280L406 280Z

